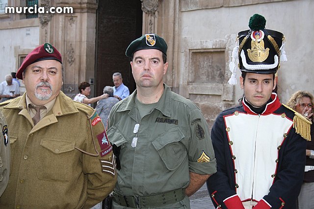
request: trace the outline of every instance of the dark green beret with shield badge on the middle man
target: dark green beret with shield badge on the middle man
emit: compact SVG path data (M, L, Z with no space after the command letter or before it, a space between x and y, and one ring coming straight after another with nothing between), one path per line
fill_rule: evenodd
M127 57L132 58L135 51L141 49L158 49L167 56L167 44L165 40L156 34L145 34L138 39L132 41L126 50Z

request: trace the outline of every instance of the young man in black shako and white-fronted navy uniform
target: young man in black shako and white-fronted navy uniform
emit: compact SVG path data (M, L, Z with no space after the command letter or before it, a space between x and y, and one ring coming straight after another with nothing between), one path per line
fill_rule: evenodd
M236 83L239 66L242 105L223 111L211 130L217 173L207 186L218 208L295 209L302 185L310 123L272 93L280 61L286 61L284 35L265 23L255 14L250 30L238 33L229 83Z

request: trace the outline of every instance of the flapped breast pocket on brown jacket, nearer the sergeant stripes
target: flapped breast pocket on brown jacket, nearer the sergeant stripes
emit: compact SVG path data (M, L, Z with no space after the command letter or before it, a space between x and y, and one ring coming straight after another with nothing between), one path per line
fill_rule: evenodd
M79 166L79 152L75 142L57 139L42 139L40 142L37 177L42 180L68 182L74 178L74 169ZM79 173L76 171L76 173Z

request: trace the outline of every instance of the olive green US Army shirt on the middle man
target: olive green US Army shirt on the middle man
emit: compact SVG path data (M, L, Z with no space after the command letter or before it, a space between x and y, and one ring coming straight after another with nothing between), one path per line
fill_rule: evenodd
M148 115L141 118L137 111L140 126L136 147L131 146L136 136L136 90L110 112L107 134L112 143L121 146L116 190L123 195L149 196L186 188L189 172L216 172L208 124L200 109L167 85L164 87ZM187 204L189 208L188 199ZM175 206L181 205L169 207Z

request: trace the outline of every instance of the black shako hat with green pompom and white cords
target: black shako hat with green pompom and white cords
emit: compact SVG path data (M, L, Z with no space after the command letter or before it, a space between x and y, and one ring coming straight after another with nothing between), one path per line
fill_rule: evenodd
M281 32L265 29L266 20L255 14L250 18L250 30L240 31L232 53L233 61L229 68L233 72L229 84L235 84L235 72L241 71L272 74L280 68L280 61L286 62L285 37Z

